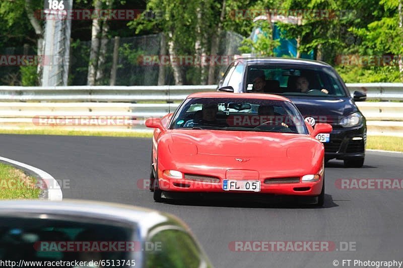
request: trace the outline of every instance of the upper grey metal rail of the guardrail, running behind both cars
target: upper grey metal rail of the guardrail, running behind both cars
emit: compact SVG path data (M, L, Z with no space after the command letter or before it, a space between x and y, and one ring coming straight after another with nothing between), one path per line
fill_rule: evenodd
M368 100L403 100L403 83L347 83L347 87L351 94L354 91L366 93ZM169 102L181 101L189 94L214 91L216 88L216 85L0 86L0 102Z

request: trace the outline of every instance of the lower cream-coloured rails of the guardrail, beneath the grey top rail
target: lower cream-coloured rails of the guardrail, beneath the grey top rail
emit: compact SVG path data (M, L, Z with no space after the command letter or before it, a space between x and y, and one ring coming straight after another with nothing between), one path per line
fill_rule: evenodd
M358 102L360 111L367 118L369 135L403 136L403 103ZM178 104L131 103L25 103L0 102L0 128L44 129L35 119L47 118L100 118L101 116L124 118L120 124L100 126L95 124L58 125L59 129L83 131L145 131L144 119L162 117L173 112ZM51 126L54 128L54 126ZM149 129L151 131L151 129Z

